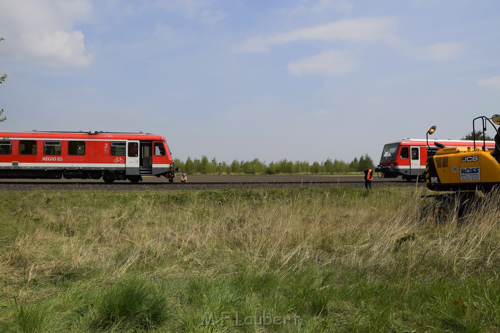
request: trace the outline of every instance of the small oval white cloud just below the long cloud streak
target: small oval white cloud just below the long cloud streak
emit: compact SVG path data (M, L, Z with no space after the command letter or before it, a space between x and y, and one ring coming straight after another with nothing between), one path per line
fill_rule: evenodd
M319 54L290 62L287 66L293 75L325 74L339 75L350 72L355 61L347 51L328 50Z

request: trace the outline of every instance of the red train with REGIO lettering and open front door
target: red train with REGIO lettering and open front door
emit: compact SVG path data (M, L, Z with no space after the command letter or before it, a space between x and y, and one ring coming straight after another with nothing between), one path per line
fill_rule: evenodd
M173 182L176 168L165 138L150 133L0 132L0 178L102 179L142 176Z

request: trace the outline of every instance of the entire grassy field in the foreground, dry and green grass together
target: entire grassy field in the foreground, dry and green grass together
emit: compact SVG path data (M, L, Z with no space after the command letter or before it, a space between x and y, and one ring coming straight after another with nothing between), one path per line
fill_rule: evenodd
M0 331L500 331L498 205L421 191L4 192Z

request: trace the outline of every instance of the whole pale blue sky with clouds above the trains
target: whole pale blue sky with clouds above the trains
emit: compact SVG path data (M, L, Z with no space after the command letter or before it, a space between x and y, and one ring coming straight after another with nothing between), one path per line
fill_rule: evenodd
M0 130L149 132L181 160L377 164L500 113L498 0L0 0L0 37Z

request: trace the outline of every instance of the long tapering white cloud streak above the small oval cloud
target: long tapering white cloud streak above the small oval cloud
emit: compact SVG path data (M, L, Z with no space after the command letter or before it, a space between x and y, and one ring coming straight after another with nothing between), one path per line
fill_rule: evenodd
M299 40L392 42L395 39L391 32L394 25L395 21L390 17L343 19L310 28L277 33L267 38L250 38L234 49L239 52L264 52L271 45Z

